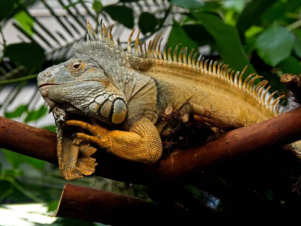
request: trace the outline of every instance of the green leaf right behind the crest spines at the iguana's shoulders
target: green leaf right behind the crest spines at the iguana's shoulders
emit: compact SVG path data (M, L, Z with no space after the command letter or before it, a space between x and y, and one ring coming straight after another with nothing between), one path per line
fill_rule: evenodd
M192 40L185 32L184 28L177 23L173 25L172 31L170 33L170 36L168 38L168 46L172 47L173 49L178 45L179 43L183 43L182 46L179 46L181 49L182 47L187 47L188 52L190 52L191 49L195 49L194 51L199 50L199 45ZM180 50L178 49L178 54Z

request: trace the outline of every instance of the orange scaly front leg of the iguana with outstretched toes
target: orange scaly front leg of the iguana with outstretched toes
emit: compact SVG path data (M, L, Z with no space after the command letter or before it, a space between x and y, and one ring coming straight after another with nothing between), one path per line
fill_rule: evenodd
M133 124L130 131L109 131L92 121L92 125L70 120L65 126L76 126L89 131L93 136L77 133L78 139L96 143L107 152L120 158L142 163L155 163L160 159L163 147L157 128L148 119Z

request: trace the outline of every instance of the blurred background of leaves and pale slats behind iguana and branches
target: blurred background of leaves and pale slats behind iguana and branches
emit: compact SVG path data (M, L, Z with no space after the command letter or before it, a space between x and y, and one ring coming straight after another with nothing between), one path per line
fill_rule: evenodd
M142 41L164 33L168 48L182 43L238 71L248 65L245 75L264 76L281 94L287 90L279 76L301 72L301 1L0 0L0 6L0 115L53 132L37 74L72 56L85 39L87 19L96 31L100 19L107 28L114 24L113 37L124 49L138 28ZM101 225L48 217L65 183L57 166L1 149L0 225ZM71 183L150 200L143 186L126 188L95 176ZM210 207L221 208L217 198L197 192Z

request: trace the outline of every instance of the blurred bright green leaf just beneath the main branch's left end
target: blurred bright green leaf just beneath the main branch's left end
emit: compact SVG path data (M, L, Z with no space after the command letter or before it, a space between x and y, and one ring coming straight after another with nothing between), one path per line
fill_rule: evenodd
M2 151L6 155L6 160L8 162L10 162L15 169L18 169L20 167L20 165L23 163L28 163L38 170L43 170L45 163L46 163L42 160L28 157L25 155L21 155L19 153L12 152L12 151L9 151L6 149L2 149Z

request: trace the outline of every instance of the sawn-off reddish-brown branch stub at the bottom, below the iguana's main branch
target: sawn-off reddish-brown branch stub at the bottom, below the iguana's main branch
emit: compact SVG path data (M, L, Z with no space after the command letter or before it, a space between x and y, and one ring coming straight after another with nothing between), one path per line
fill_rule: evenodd
M168 225L193 222L183 208L166 208L113 192L66 184L53 216L71 217L109 225Z

